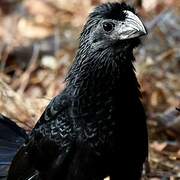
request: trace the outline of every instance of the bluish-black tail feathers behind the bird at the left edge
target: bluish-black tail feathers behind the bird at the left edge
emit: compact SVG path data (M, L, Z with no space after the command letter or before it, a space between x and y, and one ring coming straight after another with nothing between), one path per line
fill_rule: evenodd
M0 178L7 176L9 165L17 149L27 139L25 131L0 114Z

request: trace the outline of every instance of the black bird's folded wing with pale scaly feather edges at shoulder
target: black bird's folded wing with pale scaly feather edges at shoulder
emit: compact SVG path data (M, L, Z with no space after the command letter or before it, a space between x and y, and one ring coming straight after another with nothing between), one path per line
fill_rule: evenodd
M33 177L37 171L49 179L57 173L61 176L61 169L67 164L74 141L67 109L65 96L56 96L50 102L33 129L29 142L15 156L8 180Z

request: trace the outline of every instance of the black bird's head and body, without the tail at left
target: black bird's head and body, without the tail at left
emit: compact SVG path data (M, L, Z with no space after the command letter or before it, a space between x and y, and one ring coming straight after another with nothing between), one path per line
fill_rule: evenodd
M125 3L95 8L66 88L16 154L8 180L140 180L148 136L133 49L146 33Z

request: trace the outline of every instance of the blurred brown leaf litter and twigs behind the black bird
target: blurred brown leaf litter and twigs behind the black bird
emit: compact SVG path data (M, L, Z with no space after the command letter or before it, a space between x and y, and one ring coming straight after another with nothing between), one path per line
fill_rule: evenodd
M104 2L0 0L0 113L31 131L64 88L88 13ZM180 179L180 0L127 2L149 31L135 51L148 115L149 179Z

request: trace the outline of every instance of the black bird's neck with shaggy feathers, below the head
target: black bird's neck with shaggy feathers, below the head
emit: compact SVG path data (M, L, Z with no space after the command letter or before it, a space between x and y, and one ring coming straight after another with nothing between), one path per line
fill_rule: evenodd
M68 86L71 96L81 97L86 103L94 103L122 94L136 93L140 96L132 53L113 55L113 53L80 57L72 66ZM91 97L91 98L90 98Z

